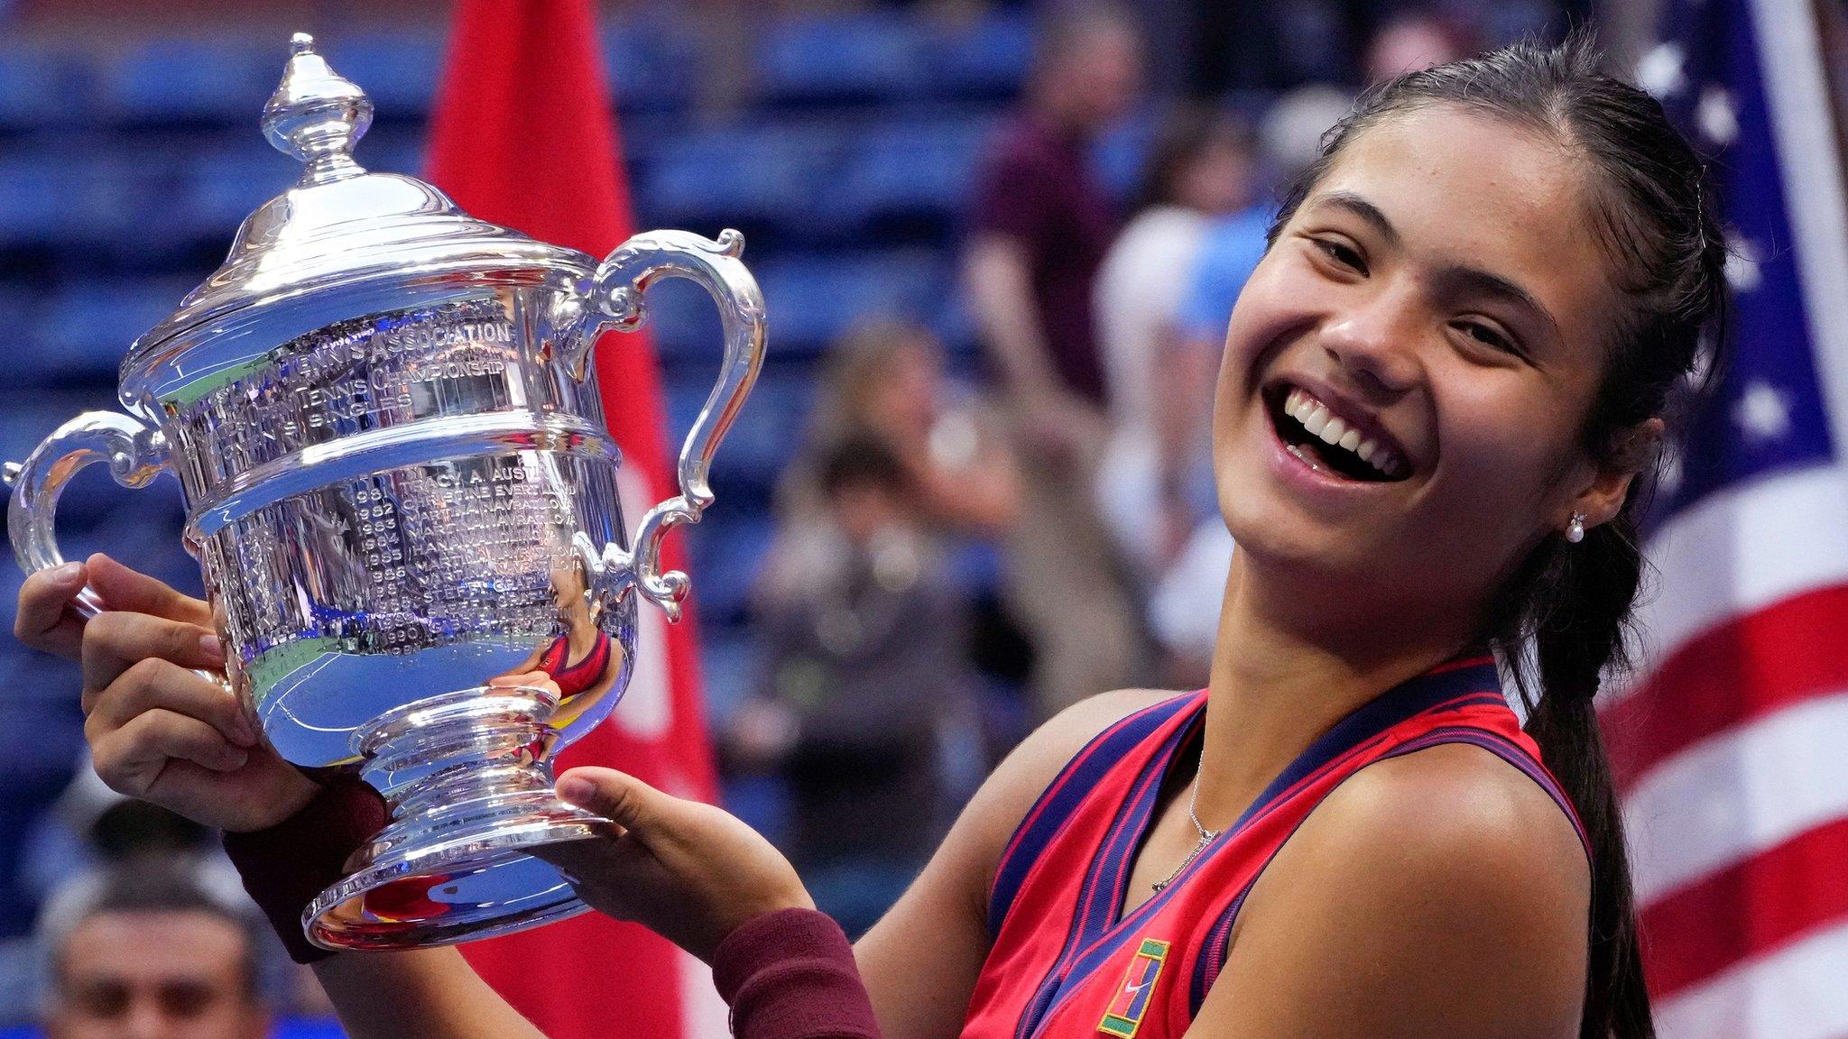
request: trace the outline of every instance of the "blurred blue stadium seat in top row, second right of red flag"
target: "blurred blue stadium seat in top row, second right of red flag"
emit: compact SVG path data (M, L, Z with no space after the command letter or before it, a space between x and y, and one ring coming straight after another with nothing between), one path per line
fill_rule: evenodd
M898 100L918 91L924 70L917 20L896 13L791 18L771 26L758 54L772 105Z

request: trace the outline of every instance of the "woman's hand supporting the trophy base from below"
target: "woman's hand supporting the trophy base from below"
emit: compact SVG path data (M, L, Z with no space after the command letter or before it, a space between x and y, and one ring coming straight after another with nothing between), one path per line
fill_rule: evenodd
M612 836L536 854L593 910L639 923L702 961L760 913L815 908L789 860L721 808L599 767L558 776L558 797L608 819Z

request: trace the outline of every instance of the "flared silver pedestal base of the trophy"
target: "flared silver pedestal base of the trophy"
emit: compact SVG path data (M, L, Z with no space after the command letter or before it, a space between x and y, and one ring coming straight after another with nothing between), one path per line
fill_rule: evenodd
M418 948L495 937L588 910L541 845L608 832L558 801L547 762L558 708L534 686L462 690L394 710L359 734L364 776L392 823L301 913L322 948Z

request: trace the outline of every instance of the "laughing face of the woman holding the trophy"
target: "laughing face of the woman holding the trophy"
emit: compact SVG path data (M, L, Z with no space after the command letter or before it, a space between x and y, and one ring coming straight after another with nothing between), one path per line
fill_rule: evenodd
M1343 610L1475 616L1586 494L1615 512L1626 477L1578 440L1619 303L1578 163L1454 107L1347 142L1227 333L1214 468L1247 562Z

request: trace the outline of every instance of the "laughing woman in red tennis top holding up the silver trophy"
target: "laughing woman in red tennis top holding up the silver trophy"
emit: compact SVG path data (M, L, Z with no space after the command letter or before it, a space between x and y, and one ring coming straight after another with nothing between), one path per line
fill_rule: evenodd
M1574 35L1392 79L1288 194L1216 388L1207 690L1029 736L852 954L743 823L608 769L560 778L612 821L549 852L580 895L713 961L747 1039L1652 1035L1591 697L1724 244L1689 144L1595 68ZM334 793L218 736L213 660L168 649L203 603L89 579L166 617L83 632L98 771L270 826L237 843L290 919ZM20 630L68 645L83 582L30 579ZM316 971L357 1037L530 1033L453 952Z

